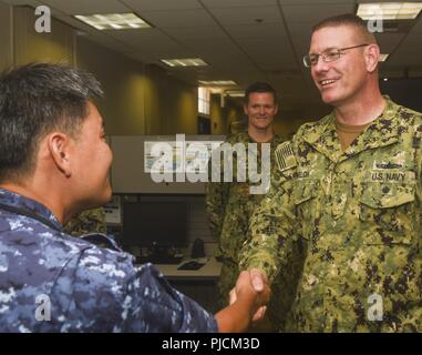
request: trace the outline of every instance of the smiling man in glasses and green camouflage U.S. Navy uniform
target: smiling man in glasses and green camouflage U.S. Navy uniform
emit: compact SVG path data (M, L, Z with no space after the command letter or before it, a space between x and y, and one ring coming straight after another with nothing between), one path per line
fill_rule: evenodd
M241 267L259 290L300 241L291 331L421 332L422 114L381 95L379 47L359 18L320 22L309 53L334 110L276 150Z

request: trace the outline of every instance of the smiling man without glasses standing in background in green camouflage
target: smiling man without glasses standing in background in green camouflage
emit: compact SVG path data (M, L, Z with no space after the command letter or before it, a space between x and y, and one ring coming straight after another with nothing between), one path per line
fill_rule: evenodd
M269 84L258 82L251 84L246 90L245 97L246 103L244 110L248 116L248 129L247 131L230 135L226 142L231 145L244 143L246 153L248 143L257 143L258 146L260 143L270 143L270 156L271 162L274 162L274 150L282 141L272 130L272 120L278 109L276 92ZM235 171L237 162L237 155L234 154L233 166ZM261 166L260 149L258 149L257 165ZM236 284L236 278L239 273L238 253L246 239L249 219L264 196L264 194L251 194L249 189L254 183L251 183L248 178L245 182L238 182L236 181L236 175L237 174L234 173L234 182L231 183L223 182L222 179L222 182L207 184L207 213L210 221L212 233L218 241L216 257L223 263L218 282L220 306L227 305L229 292ZM276 291L275 287L272 288L274 294ZM266 326L261 325L260 329L272 331L279 328L280 314L284 315L287 312L294 297L292 291L290 291L290 296L285 294L282 294L281 297L272 297L272 302L277 302L278 304L276 306L269 305L269 312L267 313L270 315L270 322L265 322ZM280 298L282 298L284 302L280 302ZM290 304L288 304L288 300L291 301ZM277 307L277 312L272 312L275 307ZM282 308L282 312L280 312L280 308Z

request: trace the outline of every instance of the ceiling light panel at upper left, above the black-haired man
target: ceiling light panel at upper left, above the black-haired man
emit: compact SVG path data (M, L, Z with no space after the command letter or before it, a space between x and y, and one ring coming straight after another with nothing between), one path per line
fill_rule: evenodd
M127 30L151 28L134 13L75 14L78 20L97 30Z

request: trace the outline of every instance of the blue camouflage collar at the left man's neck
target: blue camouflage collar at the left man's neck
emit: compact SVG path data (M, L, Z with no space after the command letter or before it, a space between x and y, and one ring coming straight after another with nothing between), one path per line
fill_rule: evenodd
M0 189L0 204L19 209L23 212L33 214L34 217L39 216L42 220L47 220L50 223L52 223L56 227L56 230L63 231L63 226L60 224L55 215L43 204L32 199L22 196L18 193L11 192L6 189ZM0 210L1 210L1 206L0 206Z

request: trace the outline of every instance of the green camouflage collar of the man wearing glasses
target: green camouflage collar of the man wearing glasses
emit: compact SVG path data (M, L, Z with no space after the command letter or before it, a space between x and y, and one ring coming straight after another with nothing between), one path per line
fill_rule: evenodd
M362 151L398 142L399 105L387 95L384 99L387 103L380 116L372 121L346 151L341 150L333 112L318 122L315 129L303 136L303 140L333 162L347 160Z

